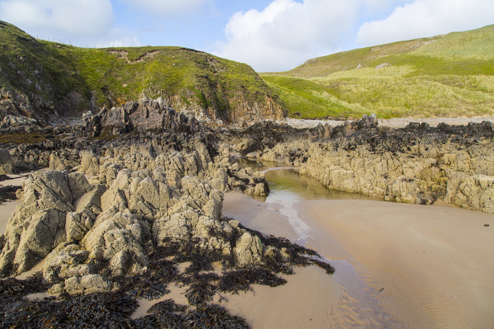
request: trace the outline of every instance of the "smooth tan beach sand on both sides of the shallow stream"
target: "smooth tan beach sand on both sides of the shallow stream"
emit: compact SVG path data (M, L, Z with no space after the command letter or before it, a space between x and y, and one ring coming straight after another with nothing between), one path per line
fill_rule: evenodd
M284 228L286 218L268 209L272 206L247 195L226 193L223 214L276 235L276 228ZM493 215L441 202L421 206L371 200L314 200L295 203L293 209L312 228L306 246L333 259L329 262L336 267L333 276L322 273L325 284L321 284L320 289L331 286L338 289L322 297L313 295L314 290L309 286L320 279L312 270L304 269L305 277L293 276L291 289L288 285L283 287L287 289L283 294L280 287L270 290L265 297L270 300L270 308L288 309L291 315L299 308L323 314L332 307L331 317L318 320L321 322L317 326L321 328L491 328L494 320ZM276 218L276 226L273 218ZM269 220L266 229L262 227L262 219ZM342 261L353 268L339 267ZM352 271L367 286L367 296L356 295L352 281L345 280L352 276ZM257 288L256 296L258 290L262 293L265 288ZM292 291L300 291L303 298L287 303L286 296ZM380 315L366 313L370 309L362 307L362 297L377 300L383 314L387 313L386 317L392 321L385 322L384 327L373 323L373 319L379 322ZM249 306L250 298L240 296L232 300L234 303L226 303L226 307L232 313L251 319L253 328L297 328L271 323L271 317L277 313L255 311ZM300 303L301 300L304 302ZM335 300L339 300L338 303L335 304ZM303 327L303 317L291 319Z

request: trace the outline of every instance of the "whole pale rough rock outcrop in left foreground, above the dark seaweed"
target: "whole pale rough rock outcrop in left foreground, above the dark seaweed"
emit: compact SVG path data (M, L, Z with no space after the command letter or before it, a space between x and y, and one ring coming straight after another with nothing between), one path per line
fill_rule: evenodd
M223 193L197 176L167 183L166 169L122 169L106 189L82 173L38 171L23 187L23 203L8 221L0 271L21 273L46 257L52 291L111 290L107 277L147 271L148 254L165 241L259 263L262 244L238 222L222 219ZM238 231L238 243L225 237ZM236 248L233 248L236 243Z

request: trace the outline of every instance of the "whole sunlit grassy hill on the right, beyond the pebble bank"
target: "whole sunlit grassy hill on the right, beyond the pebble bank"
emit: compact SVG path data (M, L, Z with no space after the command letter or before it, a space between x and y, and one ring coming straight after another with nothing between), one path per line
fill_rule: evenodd
M494 25L260 73L293 117L494 115Z

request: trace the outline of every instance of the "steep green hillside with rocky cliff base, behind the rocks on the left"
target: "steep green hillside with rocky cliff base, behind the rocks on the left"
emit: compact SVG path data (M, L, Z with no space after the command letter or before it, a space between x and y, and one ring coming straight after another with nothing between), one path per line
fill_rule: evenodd
M283 103L246 64L182 47L87 49L0 21L0 116L40 123L147 96L215 123L282 119Z

